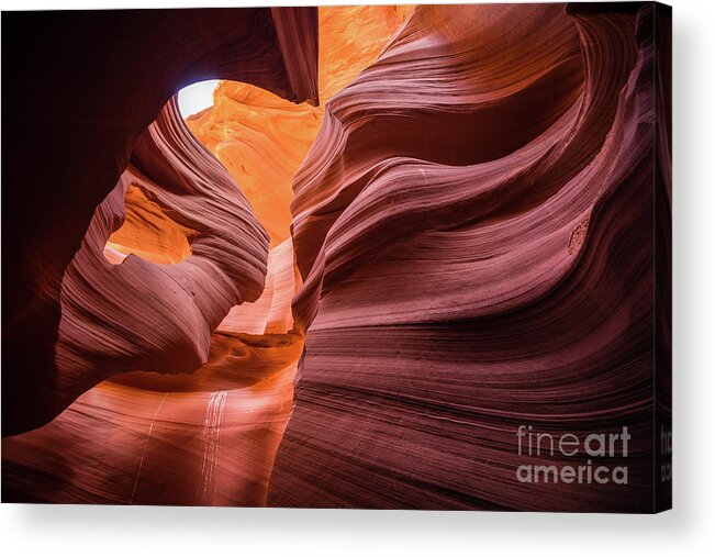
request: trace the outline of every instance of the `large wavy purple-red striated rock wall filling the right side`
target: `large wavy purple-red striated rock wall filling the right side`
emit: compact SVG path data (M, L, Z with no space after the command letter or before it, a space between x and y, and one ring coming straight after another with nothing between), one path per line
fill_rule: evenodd
M328 102L270 505L652 510L652 4L418 7ZM627 426L610 464L638 481L520 483L522 424Z

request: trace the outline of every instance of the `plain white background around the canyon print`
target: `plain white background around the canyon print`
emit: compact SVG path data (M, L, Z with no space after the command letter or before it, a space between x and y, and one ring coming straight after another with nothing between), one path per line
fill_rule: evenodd
M291 3L305 2L273 4ZM354 0L353 3L366 2ZM124 557L325 553L336 556L715 555L714 3L672 0L673 511L649 516L3 504L0 550L11 556ZM146 3L0 0L3 10L200 4L197 0ZM250 2L214 1L206 5L250 5Z

